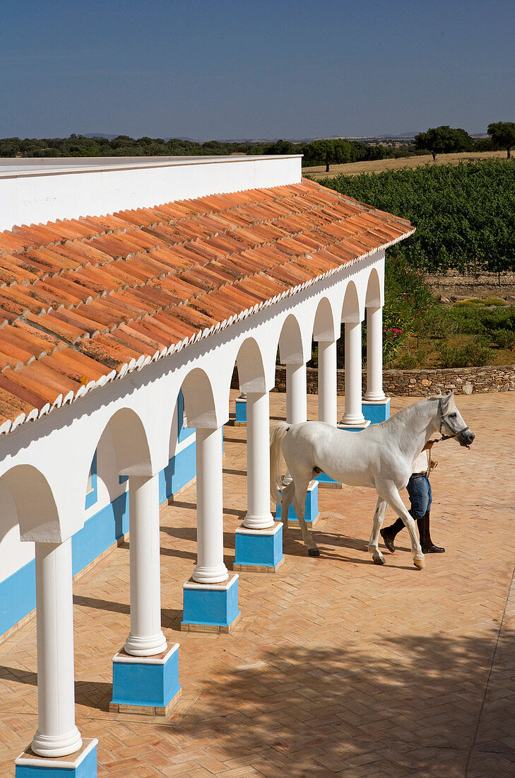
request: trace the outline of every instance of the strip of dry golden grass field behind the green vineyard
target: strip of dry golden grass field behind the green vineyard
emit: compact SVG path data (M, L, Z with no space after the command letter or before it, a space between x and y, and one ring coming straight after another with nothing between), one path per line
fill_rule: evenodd
M371 162L349 162L344 165L331 165L329 173L325 173L325 165L317 167L303 167L303 175L313 176L315 178L326 178L328 176L359 176L360 173L381 173L383 170L401 170L404 167L423 167L424 165L458 165L464 159L477 161L478 159L492 159L492 157L506 159L506 151L485 151L485 152L459 152L456 154L439 154L436 163L433 163L433 157L430 154L423 156L408 156L402 159L374 159Z

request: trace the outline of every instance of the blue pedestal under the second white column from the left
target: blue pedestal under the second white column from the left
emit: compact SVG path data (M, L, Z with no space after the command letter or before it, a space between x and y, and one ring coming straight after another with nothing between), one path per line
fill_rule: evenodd
M154 657L132 657L124 650L113 657L111 713L168 716L180 692L179 643Z

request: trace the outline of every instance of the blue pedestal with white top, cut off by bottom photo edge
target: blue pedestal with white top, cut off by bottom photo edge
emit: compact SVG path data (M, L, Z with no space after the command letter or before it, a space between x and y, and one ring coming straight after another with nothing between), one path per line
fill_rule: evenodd
M84 739L75 754L57 758L38 756L29 746L15 759L16 778L96 778L98 742Z

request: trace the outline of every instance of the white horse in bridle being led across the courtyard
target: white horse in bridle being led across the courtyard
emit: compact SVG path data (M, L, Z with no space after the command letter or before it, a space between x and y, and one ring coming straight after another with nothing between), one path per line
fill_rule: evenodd
M408 528L413 564L422 569L424 555L416 534L415 521L398 492L409 481L415 457L436 432L440 432L442 440L454 438L467 448L471 447L475 438L461 418L452 392L413 403L388 421L371 424L359 433L345 432L324 422L274 424L270 429L270 493L274 502L281 500L283 532L287 530L288 510L293 500L308 554L320 554L306 527L304 503L311 478L324 472L337 482L351 486L370 486L378 492L374 527L368 543L368 550L376 565L385 564L378 540L389 505ZM281 450L293 478L290 484L284 486L282 499Z

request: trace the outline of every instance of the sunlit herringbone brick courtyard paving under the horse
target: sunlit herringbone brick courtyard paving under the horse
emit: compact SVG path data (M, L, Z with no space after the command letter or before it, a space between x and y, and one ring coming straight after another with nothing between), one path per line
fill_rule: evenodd
M411 401L392 398L392 411ZM284 405L270 395L274 418ZM386 566L372 564L371 491L321 490L320 557L292 530L277 575L240 574L235 633L181 633L195 487L162 507L163 631L181 645L183 685L171 720L108 712L111 659L129 630L128 544L75 580L77 724L99 738L99 776L515 775L515 394L458 407L477 440L434 449L433 539L447 552L423 571L407 533ZM245 428L226 426L224 450L230 567ZM36 670L32 619L0 644L1 776L37 727Z

